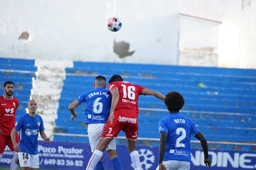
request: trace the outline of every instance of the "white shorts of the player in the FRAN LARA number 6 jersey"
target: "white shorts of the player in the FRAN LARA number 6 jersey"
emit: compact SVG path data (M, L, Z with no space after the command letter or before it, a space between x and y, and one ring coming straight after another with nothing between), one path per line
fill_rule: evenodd
M87 132L89 137L89 142L91 146L91 151L94 152L97 148L97 144L100 142L100 134L105 123L91 123L88 124ZM108 144L106 150L116 150L116 139L113 138Z

